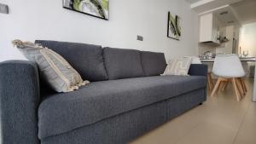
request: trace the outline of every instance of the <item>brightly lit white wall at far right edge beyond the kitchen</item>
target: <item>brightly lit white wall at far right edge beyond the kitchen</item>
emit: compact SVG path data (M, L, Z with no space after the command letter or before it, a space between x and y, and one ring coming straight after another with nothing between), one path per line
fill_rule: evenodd
M241 26L240 33L241 54L248 50L249 55L256 56L256 23Z

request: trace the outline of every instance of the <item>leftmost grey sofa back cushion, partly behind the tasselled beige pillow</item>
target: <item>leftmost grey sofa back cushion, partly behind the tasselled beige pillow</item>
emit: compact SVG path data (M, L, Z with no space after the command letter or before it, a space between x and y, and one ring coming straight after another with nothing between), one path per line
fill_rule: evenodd
M36 40L36 43L41 43L64 57L83 79L92 82L108 80L101 46L45 40Z

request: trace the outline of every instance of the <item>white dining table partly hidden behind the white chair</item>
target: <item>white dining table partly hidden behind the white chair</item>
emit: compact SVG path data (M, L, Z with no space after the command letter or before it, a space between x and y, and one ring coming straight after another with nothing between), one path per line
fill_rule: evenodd
M213 63L215 58L211 59L200 59L202 63ZM255 62L256 57L241 57L241 62ZM256 65L256 63L255 63ZM254 90L253 90L253 101L256 102L256 70L255 70L255 77L254 77Z

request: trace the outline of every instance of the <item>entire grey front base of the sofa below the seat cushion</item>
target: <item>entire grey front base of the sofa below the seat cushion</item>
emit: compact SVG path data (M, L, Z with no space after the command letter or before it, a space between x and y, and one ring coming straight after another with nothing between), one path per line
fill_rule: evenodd
M41 140L42 144L120 144L134 140L206 100L205 89L177 95L147 107L140 107L95 124L54 135Z

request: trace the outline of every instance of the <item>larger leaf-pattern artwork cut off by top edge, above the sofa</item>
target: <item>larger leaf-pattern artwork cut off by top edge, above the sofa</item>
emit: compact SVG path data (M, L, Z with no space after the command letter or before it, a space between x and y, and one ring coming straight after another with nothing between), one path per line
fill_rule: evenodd
M108 20L108 0L62 0L63 8Z

